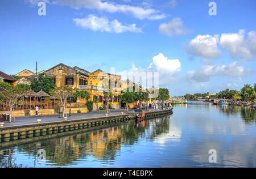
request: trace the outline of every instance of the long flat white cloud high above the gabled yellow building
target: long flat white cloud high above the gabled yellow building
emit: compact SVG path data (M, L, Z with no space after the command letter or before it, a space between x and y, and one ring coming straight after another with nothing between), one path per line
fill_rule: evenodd
M108 18L98 18L94 15L88 15L83 19L73 19L77 26L91 29L92 31L101 31L101 32L114 32L114 33L123 33L123 32L142 32L140 28L136 27L136 24L122 25L118 20L113 20L109 22Z

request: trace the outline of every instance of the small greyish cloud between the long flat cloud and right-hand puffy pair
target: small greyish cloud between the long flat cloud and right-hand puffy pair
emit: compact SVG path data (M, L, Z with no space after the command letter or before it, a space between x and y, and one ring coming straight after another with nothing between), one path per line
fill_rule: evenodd
M159 32L167 36L180 36L186 35L191 32L184 27L183 21L180 18L174 18L169 23L162 23L159 26Z

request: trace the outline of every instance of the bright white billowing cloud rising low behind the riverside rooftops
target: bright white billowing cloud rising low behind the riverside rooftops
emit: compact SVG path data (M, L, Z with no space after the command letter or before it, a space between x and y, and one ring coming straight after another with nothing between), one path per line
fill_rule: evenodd
M134 76L134 74L141 74L147 72L159 73L159 85L165 86L176 82L175 76L181 70L181 63L179 59L168 59L162 53L152 58L152 63L147 68L136 67L132 65L131 69L119 72L122 76ZM146 76L142 76L143 78Z

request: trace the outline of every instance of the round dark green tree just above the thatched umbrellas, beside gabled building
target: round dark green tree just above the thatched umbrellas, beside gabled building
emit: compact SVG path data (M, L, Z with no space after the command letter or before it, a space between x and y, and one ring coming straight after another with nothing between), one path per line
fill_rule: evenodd
M43 90L44 92L49 93L54 90L55 84L52 78L40 74L38 78L35 78L34 81L31 82L30 87L35 92Z

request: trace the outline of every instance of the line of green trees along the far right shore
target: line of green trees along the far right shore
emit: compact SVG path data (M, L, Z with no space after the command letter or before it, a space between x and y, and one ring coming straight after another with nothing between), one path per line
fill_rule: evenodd
M254 86L245 84L240 91L226 89L216 94L207 93L195 93L194 95L186 94L185 99L197 100L197 99L229 99L235 101L254 101L256 99L256 83Z

